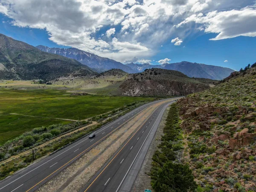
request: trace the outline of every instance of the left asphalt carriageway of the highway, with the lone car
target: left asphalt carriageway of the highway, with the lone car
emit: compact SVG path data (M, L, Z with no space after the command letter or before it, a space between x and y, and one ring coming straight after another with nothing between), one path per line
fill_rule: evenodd
M170 99L164 100L168 101ZM93 139L82 138L81 140L76 141L72 145L67 146L57 153L46 157L39 162L32 163L32 165L26 169L23 169L11 177L0 181L0 192L35 191L38 189L38 187L46 183L49 179L57 175L59 172L81 157L84 153L89 151L101 141L105 140L105 138L122 127L122 125L131 120L138 113L145 110L145 108L164 100L142 105L139 108L136 108L120 117L119 119L116 119L115 121L100 128L98 131L96 131L96 137ZM140 140L138 139L138 141ZM122 163L125 163L125 160Z

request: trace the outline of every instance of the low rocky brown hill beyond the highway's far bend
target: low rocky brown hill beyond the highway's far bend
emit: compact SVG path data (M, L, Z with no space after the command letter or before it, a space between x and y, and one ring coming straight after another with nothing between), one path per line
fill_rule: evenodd
M212 84L217 81L212 81ZM182 96L208 89L203 83L173 70L150 69L130 74L119 87L124 96Z

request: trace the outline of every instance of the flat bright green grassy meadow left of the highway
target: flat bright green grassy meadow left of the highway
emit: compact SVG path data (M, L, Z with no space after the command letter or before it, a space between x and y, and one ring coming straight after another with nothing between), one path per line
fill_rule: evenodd
M152 100L143 97L70 96L66 90L0 89L0 145L32 128L82 120L106 113L132 102ZM28 117L11 115L41 116Z

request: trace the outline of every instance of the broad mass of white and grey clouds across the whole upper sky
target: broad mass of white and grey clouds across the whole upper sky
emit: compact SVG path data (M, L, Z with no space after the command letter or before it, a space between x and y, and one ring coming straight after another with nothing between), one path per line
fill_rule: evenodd
M0 0L12 25L44 29L56 44L117 61L147 58L172 37L256 36L253 0ZM102 35L102 30L104 31Z

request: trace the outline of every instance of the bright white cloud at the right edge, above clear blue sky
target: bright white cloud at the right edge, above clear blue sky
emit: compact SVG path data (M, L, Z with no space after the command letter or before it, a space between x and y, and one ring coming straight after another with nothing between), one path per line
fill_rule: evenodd
M202 13L191 15L180 22L177 27L179 28L190 22L202 24L204 32L218 34L210 40L221 40L238 36L256 37L255 20L255 7L245 7L240 10L213 11L208 12L206 15Z

